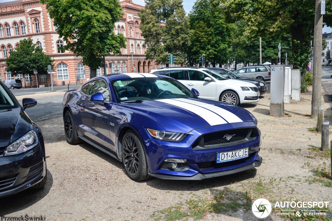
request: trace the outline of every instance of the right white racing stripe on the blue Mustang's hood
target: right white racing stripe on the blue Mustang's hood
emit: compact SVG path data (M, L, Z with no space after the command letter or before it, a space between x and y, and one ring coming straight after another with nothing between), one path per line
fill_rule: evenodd
M200 107L204 107L210 111L213 111L214 113L220 115L222 118L224 118L228 123L237 123L237 122L243 122L238 116L233 114L232 112L229 112L228 110L222 109L220 107L214 106L212 104L207 104L201 101L197 100L191 100L186 98L176 98L174 100L183 101L190 104L195 104Z

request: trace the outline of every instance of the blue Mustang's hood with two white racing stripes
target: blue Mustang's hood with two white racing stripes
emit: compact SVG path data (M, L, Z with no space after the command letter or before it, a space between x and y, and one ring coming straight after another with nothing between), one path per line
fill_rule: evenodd
M152 118L169 132L188 133L214 125L254 122L252 115L241 107L197 98L145 100L119 106Z

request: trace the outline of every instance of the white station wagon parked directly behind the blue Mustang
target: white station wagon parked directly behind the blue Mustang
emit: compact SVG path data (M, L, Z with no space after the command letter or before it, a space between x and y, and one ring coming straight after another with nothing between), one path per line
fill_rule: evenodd
M227 79L207 68L171 67L153 70L151 73L173 77L189 89L195 88L199 91L200 98L218 100L234 105L259 100L260 94L256 85Z

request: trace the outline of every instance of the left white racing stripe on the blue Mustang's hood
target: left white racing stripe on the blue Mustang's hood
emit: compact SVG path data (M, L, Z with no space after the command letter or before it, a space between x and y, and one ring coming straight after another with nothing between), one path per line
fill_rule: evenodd
M157 100L157 101L164 102L164 103L167 103L167 104L171 104L171 105L189 110L189 111L197 114L198 116L202 117L211 126L219 125L219 124L227 124L227 122L224 119L222 119L219 115L217 115L214 112L209 111L209 110L207 110L203 107L199 107L197 105L194 105L194 104L189 104L189 103L186 103L186 102L182 102L182 101L178 101L178 100L172 100L172 99L161 99L161 100Z

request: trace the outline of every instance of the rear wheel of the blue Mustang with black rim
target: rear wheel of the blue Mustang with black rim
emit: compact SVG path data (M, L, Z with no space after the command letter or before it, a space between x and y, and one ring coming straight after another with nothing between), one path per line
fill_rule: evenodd
M67 110L63 117L64 133L68 144L80 144L82 140L78 138L76 125L70 111Z

